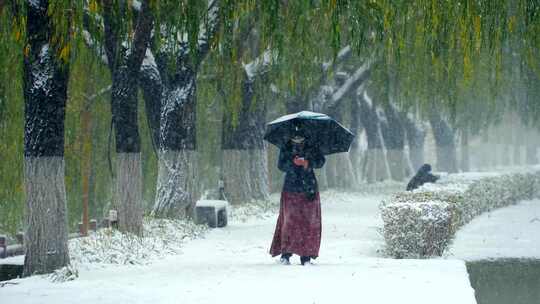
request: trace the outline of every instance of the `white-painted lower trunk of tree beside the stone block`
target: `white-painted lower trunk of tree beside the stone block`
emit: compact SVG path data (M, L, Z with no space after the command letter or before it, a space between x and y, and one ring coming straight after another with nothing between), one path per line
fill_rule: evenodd
M197 193L196 151L159 152L157 191L152 215L168 218L189 216Z

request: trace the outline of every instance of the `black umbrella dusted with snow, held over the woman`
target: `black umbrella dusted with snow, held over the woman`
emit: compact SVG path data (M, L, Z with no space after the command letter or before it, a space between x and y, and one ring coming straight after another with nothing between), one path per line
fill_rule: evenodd
M325 155L349 151L354 138L351 131L330 116L302 111L269 122L264 139L284 148L297 134L306 138L306 144L319 148Z

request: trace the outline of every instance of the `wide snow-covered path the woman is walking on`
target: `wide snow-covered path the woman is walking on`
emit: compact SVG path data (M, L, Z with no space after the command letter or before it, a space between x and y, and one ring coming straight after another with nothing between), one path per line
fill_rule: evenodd
M323 195L314 266L276 263L267 251L277 214L209 232L180 255L147 266L80 269L77 280L41 277L0 288L2 303L476 303L463 261L393 260L383 244L382 197Z

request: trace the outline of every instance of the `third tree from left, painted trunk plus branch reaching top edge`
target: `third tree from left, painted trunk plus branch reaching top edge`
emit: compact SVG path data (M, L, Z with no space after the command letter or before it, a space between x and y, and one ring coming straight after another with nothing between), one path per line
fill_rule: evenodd
M208 1L206 19L200 20L195 48L187 33L178 39L152 44L162 81L158 179L152 214L159 217L185 217L197 199L197 73L210 51L218 29L219 1ZM171 67L171 62L174 62Z

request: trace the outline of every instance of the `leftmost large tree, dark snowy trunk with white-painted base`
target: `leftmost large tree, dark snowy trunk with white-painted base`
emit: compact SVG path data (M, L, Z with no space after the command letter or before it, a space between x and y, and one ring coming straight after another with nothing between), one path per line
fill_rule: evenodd
M24 52L23 89L26 232L23 275L29 276L49 273L69 264L64 177L64 120L69 53L62 53L66 52L67 44L53 42L55 28L48 9L49 2L28 1L25 4L27 48ZM66 38L64 43L69 43L69 39Z

